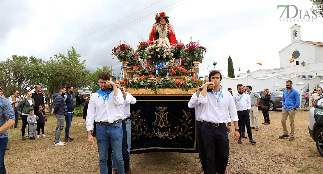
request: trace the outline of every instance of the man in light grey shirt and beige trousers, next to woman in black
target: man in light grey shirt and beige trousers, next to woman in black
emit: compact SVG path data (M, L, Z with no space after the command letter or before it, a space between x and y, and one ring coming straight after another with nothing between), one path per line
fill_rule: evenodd
M251 110L250 110L251 129L256 129L256 131L259 131L258 105L261 100L261 96L257 92L252 91L252 87L250 85L247 86L247 92L250 96L250 102L251 102Z

